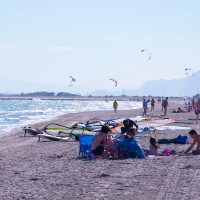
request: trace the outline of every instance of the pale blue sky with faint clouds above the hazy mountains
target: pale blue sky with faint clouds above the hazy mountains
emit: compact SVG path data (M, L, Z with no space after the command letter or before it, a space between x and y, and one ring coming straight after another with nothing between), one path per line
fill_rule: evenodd
M184 78L185 68L200 70L199 8L198 0L0 0L0 78L68 85L72 75L110 91Z

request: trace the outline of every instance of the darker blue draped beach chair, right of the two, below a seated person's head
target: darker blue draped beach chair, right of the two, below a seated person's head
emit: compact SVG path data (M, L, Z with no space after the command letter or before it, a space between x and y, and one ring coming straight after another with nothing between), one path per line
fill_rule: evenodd
M142 149L134 138L117 140L117 142L115 142L115 146L119 150L118 156L121 154L127 157L145 158Z

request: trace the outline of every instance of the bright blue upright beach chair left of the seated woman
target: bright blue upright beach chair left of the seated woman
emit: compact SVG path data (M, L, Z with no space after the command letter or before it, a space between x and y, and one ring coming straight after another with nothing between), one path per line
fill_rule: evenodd
M87 156L94 136L79 135L79 156Z

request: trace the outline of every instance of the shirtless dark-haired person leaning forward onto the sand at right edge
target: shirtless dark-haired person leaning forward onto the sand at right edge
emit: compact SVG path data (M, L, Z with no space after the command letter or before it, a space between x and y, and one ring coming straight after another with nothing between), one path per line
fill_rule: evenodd
M194 129L190 130L189 134L190 134L190 137L193 139L193 143L191 144L191 146L187 149L187 151L184 154L189 153L194 148L195 144L197 143L197 149L193 150L192 154L198 155L199 150L200 150L200 135L198 135Z

